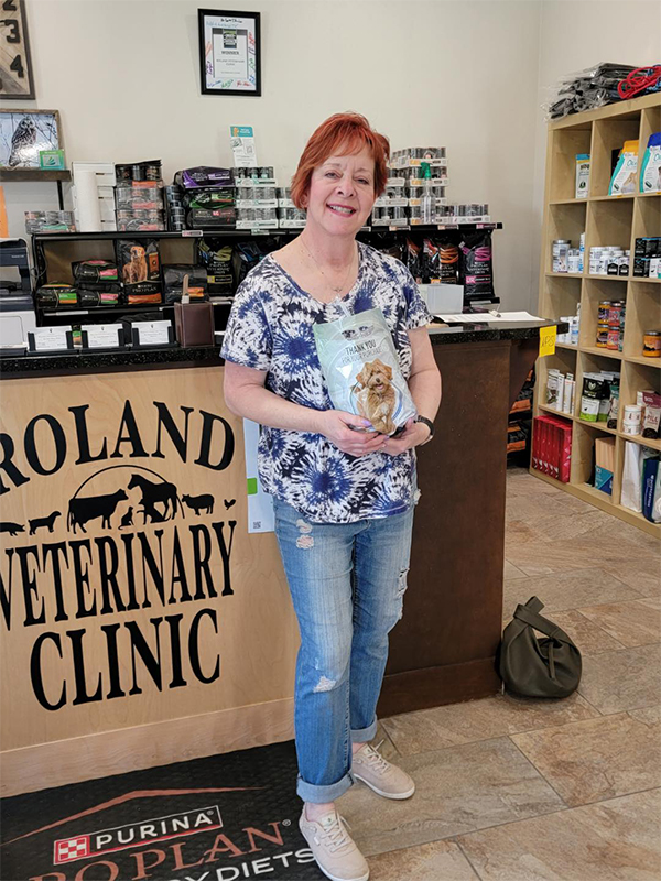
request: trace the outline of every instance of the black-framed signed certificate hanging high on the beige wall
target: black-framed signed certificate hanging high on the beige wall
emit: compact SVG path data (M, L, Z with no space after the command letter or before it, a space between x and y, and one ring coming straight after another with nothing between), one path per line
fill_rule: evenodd
M261 95L260 13L198 9L203 95Z

